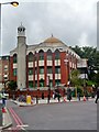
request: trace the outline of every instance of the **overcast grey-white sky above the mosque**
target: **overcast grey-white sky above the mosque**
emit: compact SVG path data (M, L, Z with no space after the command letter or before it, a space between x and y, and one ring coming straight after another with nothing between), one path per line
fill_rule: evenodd
M26 29L28 45L38 44L53 34L68 46L97 46L97 0L18 1L18 8L2 6L3 55L16 47L21 22Z

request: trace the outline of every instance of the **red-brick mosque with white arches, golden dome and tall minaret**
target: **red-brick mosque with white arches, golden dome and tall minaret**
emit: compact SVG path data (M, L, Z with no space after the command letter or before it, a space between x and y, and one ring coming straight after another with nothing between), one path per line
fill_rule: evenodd
M25 28L18 28L18 45L10 52L10 80L18 89L46 88L66 85L72 69L81 59L72 48L55 36L38 44L28 45Z

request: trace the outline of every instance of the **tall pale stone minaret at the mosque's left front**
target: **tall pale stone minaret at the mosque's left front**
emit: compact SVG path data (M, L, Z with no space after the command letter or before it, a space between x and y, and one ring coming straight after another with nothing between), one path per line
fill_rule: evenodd
M18 89L26 87L26 37L25 28L18 28Z

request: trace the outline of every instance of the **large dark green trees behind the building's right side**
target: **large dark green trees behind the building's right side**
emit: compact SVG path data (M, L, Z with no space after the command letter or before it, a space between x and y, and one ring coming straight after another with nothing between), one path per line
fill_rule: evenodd
M88 59L88 78L92 84L99 86L99 51L90 46L75 46L73 48L81 58ZM96 73L98 72L98 73ZM90 82L88 82L90 86Z

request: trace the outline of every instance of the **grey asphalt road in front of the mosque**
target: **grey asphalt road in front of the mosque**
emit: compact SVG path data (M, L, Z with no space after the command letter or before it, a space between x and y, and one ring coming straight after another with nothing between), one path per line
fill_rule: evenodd
M16 107L8 102L26 130L97 130L97 105L94 101Z

